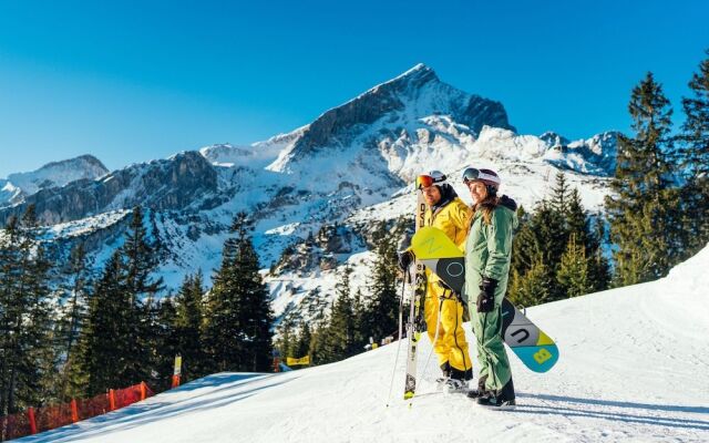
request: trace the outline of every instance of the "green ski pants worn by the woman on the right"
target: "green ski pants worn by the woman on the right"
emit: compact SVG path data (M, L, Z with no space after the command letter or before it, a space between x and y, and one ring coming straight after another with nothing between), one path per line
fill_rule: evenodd
M473 300L470 312L477 344L480 378L485 379L485 389L499 391L512 379L510 360L502 340L501 303L495 302L491 312L477 312Z

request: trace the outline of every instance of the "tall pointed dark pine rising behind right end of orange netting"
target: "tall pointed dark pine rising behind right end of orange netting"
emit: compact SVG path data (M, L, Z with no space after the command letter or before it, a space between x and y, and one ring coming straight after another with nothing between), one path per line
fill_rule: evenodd
M157 259L143 227L143 212L133 209L124 245L106 261L89 303L80 336L76 383L89 394L152 382L160 374L160 305L162 278L151 275Z

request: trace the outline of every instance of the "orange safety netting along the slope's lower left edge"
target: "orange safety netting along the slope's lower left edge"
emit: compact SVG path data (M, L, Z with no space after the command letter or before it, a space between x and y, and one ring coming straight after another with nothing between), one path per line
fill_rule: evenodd
M105 414L153 395L155 393L147 384L141 383L125 389L110 390L92 399L72 400L70 403L37 410L30 408L27 412L0 416L0 442Z

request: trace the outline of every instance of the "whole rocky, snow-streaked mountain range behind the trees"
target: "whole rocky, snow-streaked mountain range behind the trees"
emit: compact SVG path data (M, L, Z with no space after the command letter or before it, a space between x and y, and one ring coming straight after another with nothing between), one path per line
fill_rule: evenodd
M186 272L208 276L218 267L234 214L247 210L261 265L273 271L276 313L310 315L327 307L343 262L367 293L371 224L411 213L407 185L417 174L448 173L466 199L460 172L490 167L504 193L532 208L563 169L597 212L616 135L571 142L516 134L501 103L456 90L420 64L309 125L251 145L206 146L111 173L85 156L12 175L0 181L0 224L34 205L60 254L86 243L100 268L122 244L130 209L142 205L161 247L160 272L174 288Z

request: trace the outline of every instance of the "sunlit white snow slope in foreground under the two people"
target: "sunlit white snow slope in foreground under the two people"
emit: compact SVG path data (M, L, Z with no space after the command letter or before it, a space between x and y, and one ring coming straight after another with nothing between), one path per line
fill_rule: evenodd
M405 347L392 343L301 371L214 374L18 442L707 442L708 268L709 247L659 281L528 309L561 359L537 374L511 354L514 411L436 392L433 361L409 406ZM420 349L423 367L428 339Z

